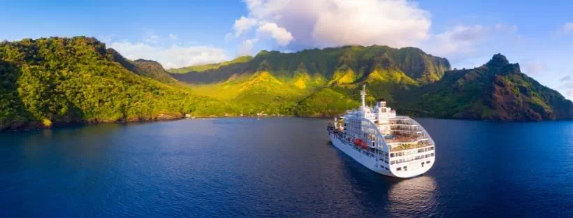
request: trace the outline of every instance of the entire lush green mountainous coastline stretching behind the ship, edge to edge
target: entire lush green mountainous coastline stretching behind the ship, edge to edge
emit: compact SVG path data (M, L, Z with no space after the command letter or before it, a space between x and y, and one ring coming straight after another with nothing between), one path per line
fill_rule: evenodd
M185 114L330 117L356 108L362 85L369 104L386 99L406 115L573 118L571 101L500 54L484 66L454 71L447 59L419 49L378 45L263 51L213 66L170 74L156 61L125 59L87 37L4 41L0 131Z

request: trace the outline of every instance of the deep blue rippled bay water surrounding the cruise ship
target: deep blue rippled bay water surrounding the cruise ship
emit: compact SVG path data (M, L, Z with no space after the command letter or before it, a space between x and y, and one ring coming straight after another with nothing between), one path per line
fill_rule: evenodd
M573 217L573 122L418 119L428 173L372 173L324 119L0 134L0 217Z

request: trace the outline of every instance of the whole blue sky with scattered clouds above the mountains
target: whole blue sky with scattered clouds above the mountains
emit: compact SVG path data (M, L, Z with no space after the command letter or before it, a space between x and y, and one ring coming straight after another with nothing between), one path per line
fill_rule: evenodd
M0 39L94 36L165 68L260 50L421 48L453 68L504 54L573 99L573 1L3 1Z

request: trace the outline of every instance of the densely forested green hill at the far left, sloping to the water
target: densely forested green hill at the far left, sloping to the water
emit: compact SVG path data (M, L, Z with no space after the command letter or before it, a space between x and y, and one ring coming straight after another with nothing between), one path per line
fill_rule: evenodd
M151 79L171 80L150 67L155 64L121 62L117 55L87 37L0 43L0 131L173 119L210 102Z

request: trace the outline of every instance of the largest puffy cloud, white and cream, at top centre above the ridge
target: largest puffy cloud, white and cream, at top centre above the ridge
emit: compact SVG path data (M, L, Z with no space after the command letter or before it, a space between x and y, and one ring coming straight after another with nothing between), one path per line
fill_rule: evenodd
M428 38L431 25L430 13L405 0L245 0L245 3L249 16L237 21L247 23L250 19L248 23L253 25L259 21L257 31L271 33L283 46L293 38L297 45L305 47L411 46ZM237 32L235 29L235 35L245 31Z

